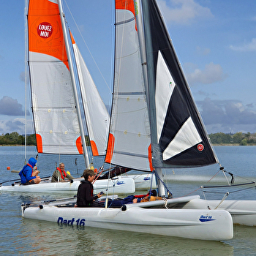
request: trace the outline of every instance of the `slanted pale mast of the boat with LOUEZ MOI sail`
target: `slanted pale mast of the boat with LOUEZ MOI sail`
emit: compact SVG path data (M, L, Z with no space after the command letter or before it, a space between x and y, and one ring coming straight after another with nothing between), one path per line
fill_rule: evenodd
M62 3L61 0L59 0L59 12L60 12L60 18L61 18L61 26L62 26L62 31L64 34L64 40L65 40L65 45L67 48L67 59L69 62L69 69L70 69L70 75L71 75L71 80L72 80L72 89L74 91L74 97L75 97L75 104L76 104L76 110L78 112L78 122L79 122L79 127L80 127L80 136L82 140L82 146L83 146L83 157L86 162L86 167L89 167L90 162L89 162L89 156L88 156L88 151L86 148L86 138L84 135L84 130L83 130L83 121L81 117L81 112L80 112L80 105L79 105L79 99L78 99L78 90L75 82L75 75L74 75L74 69L73 69L73 64L72 64L72 57L70 53L70 47L69 47L69 40L67 38L67 29L66 29L66 24L65 24L65 15L62 9Z

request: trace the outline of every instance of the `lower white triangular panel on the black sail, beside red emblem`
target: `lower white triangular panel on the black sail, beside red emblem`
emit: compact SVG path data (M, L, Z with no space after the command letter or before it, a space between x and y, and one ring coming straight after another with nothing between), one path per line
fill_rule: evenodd
M177 154L197 145L201 141L202 139L197 132L195 124L193 123L192 118L189 117L177 132L175 138L173 138L167 148L165 148L162 158L165 161L171 157L175 157Z

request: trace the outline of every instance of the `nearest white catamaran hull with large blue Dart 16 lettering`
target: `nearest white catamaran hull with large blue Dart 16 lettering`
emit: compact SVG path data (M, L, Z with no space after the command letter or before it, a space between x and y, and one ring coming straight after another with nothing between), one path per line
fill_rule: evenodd
M182 200L175 199L167 201L168 205L182 203ZM22 206L22 216L59 225L100 227L182 238L214 241L233 238L232 217L224 210L165 208L164 200L121 208L74 208L58 204Z

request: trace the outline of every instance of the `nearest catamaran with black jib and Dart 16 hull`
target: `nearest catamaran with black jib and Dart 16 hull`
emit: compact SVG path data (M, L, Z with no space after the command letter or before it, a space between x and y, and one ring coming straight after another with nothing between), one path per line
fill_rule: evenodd
M74 199L64 199L23 204L22 216L59 225L182 238L215 241L233 238L233 220L228 211L185 209L186 203L198 197L173 199L162 183L162 167L211 165L217 162L217 157L197 114L156 1L116 0L115 25L115 77L105 162L154 171L162 200L118 208L108 207L107 202L105 208L77 208L72 207Z

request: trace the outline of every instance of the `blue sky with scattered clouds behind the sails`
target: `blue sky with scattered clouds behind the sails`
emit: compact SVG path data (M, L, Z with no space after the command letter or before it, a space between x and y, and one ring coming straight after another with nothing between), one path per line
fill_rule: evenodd
M110 105L114 1L63 2L83 59L105 105ZM256 1L157 3L207 132L255 133ZM0 135L24 134L25 123L27 133L34 133L25 85L25 4L25 0L0 3Z

